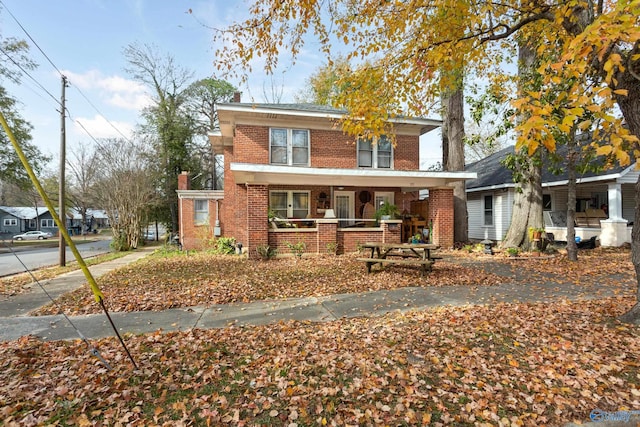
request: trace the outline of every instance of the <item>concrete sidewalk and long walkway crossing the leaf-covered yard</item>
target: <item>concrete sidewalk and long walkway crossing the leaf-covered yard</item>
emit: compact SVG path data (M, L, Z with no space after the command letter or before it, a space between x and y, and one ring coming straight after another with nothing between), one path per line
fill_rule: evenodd
M123 258L90 267L94 277L134 262L153 248L143 248ZM497 264L493 271L500 274ZM506 273L504 273L506 274ZM43 283L51 297L70 292L85 283L81 271L65 274ZM87 288L87 292L90 290ZM393 311L407 311L442 305L474 305L496 302L544 302L558 299L591 299L613 296L598 289L556 283L522 285L522 278L496 286L410 287L395 290L341 294L325 297L291 298L229 305L197 306L165 311L110 313L118 331L145 333L158 329L184 331L191 328L224 328L230 325L264 325L280 320L326 322L340 318L381 316ZM34 335L43 340L71 340L78 333L63 315L30 317L30 311L49 303L42 290L34 285L32 292L0 301L0 340L15 340ZM108 307L108 301L107 301ZM73 316L75 327L87 338L113 335L108 319L101 314Z

